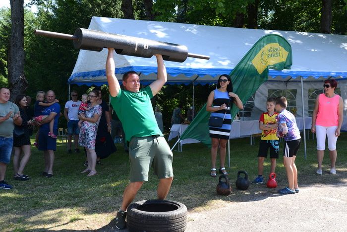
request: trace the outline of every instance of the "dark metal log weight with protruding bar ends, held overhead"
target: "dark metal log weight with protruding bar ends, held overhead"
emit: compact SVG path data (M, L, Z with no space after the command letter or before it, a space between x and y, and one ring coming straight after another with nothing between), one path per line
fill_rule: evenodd
M117 54L150 58L161 54L166 61L184 62L187 57L210 59L209 56L188 53L184 45L160 42L138 37L118 35L103 31L77 28L73 35L35 30L35 35L73 40L76 49L100 52L104 48L114 48Z

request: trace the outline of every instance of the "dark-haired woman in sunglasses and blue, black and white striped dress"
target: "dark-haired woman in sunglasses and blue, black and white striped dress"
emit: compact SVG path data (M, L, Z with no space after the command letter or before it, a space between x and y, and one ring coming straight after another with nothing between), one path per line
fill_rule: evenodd
M232 103L239 109L243 108L243 104L240 98L232 92L232 83L229 75L223 74L219 77L217 83L217 89L211 91L207 99L206 110L211 112L211 116L217 116L224 118L222 127L210 127L210 138L212 140L211 147L211 176L217 176L216 159L218 146L220 147L221 166L219 172L221 174L228 174L224 167L227 142L230 136L231 130L231 115L230 107Z

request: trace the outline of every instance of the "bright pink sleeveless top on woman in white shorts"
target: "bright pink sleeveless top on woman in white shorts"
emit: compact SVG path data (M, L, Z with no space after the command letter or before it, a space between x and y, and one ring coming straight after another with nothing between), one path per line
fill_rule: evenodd
M332 98L329 98L324 93L319 94L316 125L323 127L339 125L339 101L340 95L336 94Z

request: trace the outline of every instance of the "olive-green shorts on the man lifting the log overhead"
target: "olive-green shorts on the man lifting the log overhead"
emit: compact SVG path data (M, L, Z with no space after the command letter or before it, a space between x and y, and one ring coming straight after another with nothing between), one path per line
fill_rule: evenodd
M129 159L130 182L148 181L152 165L159 179L173 177L173 153L163 136L132 137Z

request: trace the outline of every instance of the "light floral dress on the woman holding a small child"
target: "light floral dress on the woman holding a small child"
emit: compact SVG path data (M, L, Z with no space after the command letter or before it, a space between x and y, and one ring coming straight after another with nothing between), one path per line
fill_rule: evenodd
M93 118L94 114L101 115L103 112L100 105L95 105L85 112L86 118ZM95 149L95 139L96 133L98 131L98 126L100 122L100 118L97 122L91 123L87 121L83 121L82 126L79 131L79 139L78 143L81 147L86 147L88 149Z

